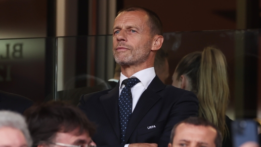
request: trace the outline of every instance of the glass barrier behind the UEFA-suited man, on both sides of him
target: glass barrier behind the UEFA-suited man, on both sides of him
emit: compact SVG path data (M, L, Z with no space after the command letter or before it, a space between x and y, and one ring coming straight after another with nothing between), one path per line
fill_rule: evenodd
M166 84L172 84L171 76L182 57L215 45L228 65L227 115L232 119L261 117L259 30L174 32L163 36L162 49L168 53L169 64ZM34 102L56 96L57 100L77 105L82 94L111 88L108 80L114 78L115 67L111 35L0 39L0 90Z

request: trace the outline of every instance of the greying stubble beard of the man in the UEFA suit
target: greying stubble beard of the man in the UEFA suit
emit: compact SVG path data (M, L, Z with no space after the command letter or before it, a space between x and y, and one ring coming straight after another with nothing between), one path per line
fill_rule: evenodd
M117 46L124 46L130 49L130 54L124 54L124 53L117 53L116 47ZM151 41L148 40L144 45L138 46L134 49L131 45L126 45L125 43L119 42L114 48L113 48L113 56L115 59L115 62L119 65L137 65L140 63L145 62L150 54L151 50ZM122 54L122 55L121 55Z

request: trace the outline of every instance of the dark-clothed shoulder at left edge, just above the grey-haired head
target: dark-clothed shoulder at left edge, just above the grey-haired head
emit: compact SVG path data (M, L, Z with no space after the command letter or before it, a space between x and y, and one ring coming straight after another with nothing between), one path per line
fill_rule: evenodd
M0 110L11 110L23 114L32 105L33 101L26 97L0 91Z

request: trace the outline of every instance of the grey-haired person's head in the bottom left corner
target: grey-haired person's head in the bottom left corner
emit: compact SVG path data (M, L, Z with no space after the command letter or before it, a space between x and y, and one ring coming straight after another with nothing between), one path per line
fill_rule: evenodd
M31 147L25 118L16 112L0 111L0 147Z

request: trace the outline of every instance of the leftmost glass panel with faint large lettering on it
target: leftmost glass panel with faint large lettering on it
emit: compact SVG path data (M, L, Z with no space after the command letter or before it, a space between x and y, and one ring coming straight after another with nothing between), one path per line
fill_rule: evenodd
M0 90L43 102L53 89L54 38L0 39Z

